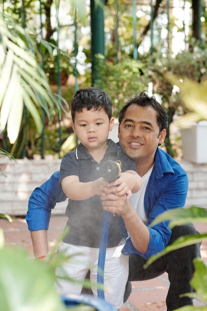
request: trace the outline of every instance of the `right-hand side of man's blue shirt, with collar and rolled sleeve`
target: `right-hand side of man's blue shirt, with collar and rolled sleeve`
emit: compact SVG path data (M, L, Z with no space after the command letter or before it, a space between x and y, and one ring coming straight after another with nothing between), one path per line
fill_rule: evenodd
M147 183L144 195L144 211L148 225L166 210L184 207L188 193L188 177L184 169L171 156L157 148L154 167ZM168 222L162 222L149 228L149 244L142 254L133 246L128 237L122 250L124 255L137 253L144 259L162 251L171 237Z

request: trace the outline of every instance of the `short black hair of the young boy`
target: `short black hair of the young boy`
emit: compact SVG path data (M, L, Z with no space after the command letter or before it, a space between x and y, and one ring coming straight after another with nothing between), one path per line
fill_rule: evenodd
M112 117L112 101L110 96L100 88L86 87L76 91L71 101L71 116L74 122L75 113L87 110L101 110L102 108L109 117Z

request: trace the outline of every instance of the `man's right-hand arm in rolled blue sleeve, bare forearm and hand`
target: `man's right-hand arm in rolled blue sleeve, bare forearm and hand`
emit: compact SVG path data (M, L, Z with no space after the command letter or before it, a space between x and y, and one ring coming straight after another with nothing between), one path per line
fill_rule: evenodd
M157 192L154 201L150 200L151 206L148 215L146 215L148 224L151 224L159 214L166 210L183 207L187 190L186 174L177 173L175 176L168 174L163 177L162 186L159 184L159 193ZM163 250L168 244L171 236L168 222L162 222L151 228L147 227L136 215L137 212L124 196L118 197L112 194L102 196L102 205L105 210L117 213L124 219L130 234L123 248L125 254L138 253L143 258L148 259L151 255Z

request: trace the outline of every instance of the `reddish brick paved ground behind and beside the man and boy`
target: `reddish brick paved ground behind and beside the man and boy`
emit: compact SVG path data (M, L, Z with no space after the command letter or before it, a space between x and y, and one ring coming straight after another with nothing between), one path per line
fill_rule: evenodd
M59 237L66 224L66 217L54 215L51 217L48 231L49 246L52 247L56 238ZM196 225L200 232L207 232L207 224ZM0 219L0 228L3 229L5 243L19 245L28 250L28 255L33 256L32 243L27 224L23 218L14 218L12 223ZM207 242L201 246L202 258L207 264ZM133 291L127 303L120 311L166 311L165 299L169 287L167 273L162 276L141 282L132 282ZM195 302L195 305L201 305Z

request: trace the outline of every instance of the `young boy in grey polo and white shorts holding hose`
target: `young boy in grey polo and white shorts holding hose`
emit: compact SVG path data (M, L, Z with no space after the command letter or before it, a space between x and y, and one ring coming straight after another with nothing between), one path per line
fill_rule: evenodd
M100 195L114 187L119 196L131 196L141 186L141 178L135 163L119 150L117 144L107 140L112 130L112 102L109 95L98 88L78 90L71 101L72 129L80 144L66 154L61 162L60 185L69 198L66 215L69 233L64 238L60 251L70 257L64 265L67 274L76 280L84 280L88 270L92 282L97 280L97 263L102 227L103 208ZM119 178L110 184L100 175L100 166L106 160L122 163ZM114 214L115 215L115 214ZM121 254L128 233L122 217L111 217L104 268L105 299L116 310L122 307L128 279L128 256ZM61 275L61 270L57 271ZM81 292L80 283L59 282L61 296ZM97 296L97 290L92 288Z

